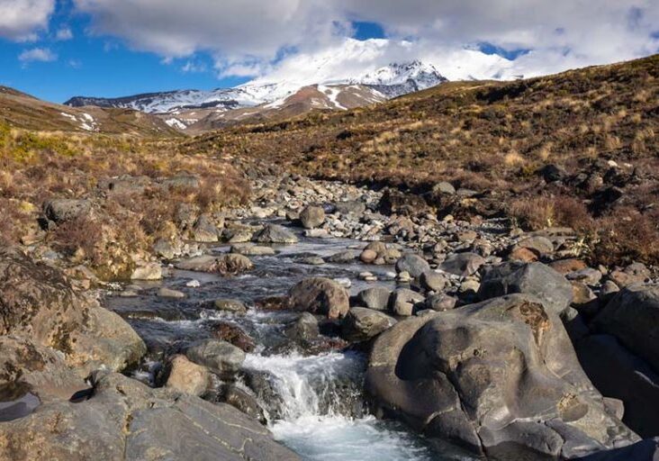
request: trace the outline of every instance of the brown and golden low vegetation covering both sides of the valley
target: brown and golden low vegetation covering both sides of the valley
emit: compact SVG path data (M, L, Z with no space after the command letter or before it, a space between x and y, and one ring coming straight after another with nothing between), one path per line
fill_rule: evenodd
M15 97L24 103L23 96ZM201 177L198 190L164 195L147 188L101 202L105 227L113 221L115 228L109 239L139 252L167 234L176 203L204 210L239 203L248 196L243 172L288 170L398 187L422 195L440 215L510 216L529 230L570 226L582 232L592 262L657 264L658 101L659 56L653 56L515 82L448 83L373 107L195 138L165 132L154 138L150 128L131 125L140 119L136 113L125 120L114 114L110 120L122 124L106 125L108 132L57 131L47 122L50 131L36 131L37 119L16 122L7 113L16 119L24 112L5 109L0 207L9 219L0 233L29 240L44 201L97 196L107 177ZM473 193L435 194L439 181ZM95 258L111 241L94 246L73 228L107 236L97 225L69 224L49 239L62 251Z

